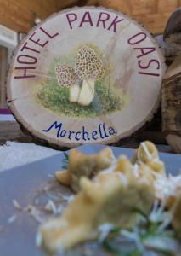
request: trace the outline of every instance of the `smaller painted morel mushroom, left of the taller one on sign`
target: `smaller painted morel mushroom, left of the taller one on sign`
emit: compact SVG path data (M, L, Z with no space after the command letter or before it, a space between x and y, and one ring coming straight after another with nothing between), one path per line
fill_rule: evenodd
M56 65L54 71L59 86L69 88L69 101L77 102L81 89L74 69L67 65Z

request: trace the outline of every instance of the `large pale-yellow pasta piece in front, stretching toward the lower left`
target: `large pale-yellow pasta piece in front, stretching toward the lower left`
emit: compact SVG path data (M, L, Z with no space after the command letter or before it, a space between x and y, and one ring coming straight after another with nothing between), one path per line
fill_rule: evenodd
M119 159L119 166L131 165L127 159ZM96 238L95 230L107 222L122 227L132 227L136 221L133 208L149 212L154 201L153 178L145 171L134 176L133 169L122 172L99 172L93 178L82 177L81 191L59 218L42 224L42 244L49 251L68 248L76 243ZM126 165L125 165L126 166Z

